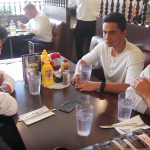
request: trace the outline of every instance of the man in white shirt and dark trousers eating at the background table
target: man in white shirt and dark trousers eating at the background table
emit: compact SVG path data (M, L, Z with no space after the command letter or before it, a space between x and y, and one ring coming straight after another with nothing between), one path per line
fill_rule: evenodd
M18 23L21 29L25 29L30 33L35 34L33 39L22 40L25 41L25 47L22 48L22 54L28 54L28 41L34 43L34 51L43 51L43 49L52 49L52 29L48 17L36 10L33 4L27 4L24 7L25 16L30 19L27 24ZM23 43L21 41L21 43Z

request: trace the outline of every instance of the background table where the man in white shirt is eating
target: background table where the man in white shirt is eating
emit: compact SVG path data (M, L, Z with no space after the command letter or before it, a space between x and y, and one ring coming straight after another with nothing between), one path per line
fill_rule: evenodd
M16 32L15 35L11 35L10 33L8 33L7 39L9 40L11 58L13 58L12 39L31 38L33 36L34 34L29 32Z

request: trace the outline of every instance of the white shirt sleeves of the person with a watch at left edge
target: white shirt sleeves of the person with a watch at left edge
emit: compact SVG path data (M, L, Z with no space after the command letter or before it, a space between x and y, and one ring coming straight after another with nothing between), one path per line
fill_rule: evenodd
M3 84L7 84L11 88L11 92L14 91L15 81L5 72L0 71L0 73L4 74ZM9 94L0 92L0 115L11 116L16 114L17 112L17 101Z

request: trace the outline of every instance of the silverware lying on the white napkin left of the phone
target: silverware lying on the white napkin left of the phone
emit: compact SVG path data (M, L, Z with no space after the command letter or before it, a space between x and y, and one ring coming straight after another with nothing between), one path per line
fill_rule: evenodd
M21 121L26 121L26 120L28 120L28 119L31 119L31 118L34 118L34 117L37 117L37 116L41 116L41 115L43 115L43 114L45 114L45 113L48 113L48 112L50 112L50 111L56 111L56 109L49 109L49 110L44 111L44 112L39 112L39 111L37 111L37 112L35 112L35 113L31 113L31 115L25 116L25 117L23 117L23 118L19 118L18 121L19 121L19 122L21 122Z

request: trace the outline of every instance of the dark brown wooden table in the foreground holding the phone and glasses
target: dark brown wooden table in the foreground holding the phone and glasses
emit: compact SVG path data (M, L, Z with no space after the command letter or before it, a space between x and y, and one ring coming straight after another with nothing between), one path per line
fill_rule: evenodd
M71 77L75 64L69 61ZM98 81L94 76L92 81ZM100 125L118 123L118 95L107 92L80 92L70 84L64 89L48 89L41 86L41 93L33 96L29 88L23 82L17 82L12 94L18 102L18 113L13 116L14 122L21 135L27 150L53 150L63 146L70 150L81 149L98 142L102 142L119 135L115 129L101 129ZM88 137L77 135L75 109L70 113L63 112L58 107L67 100L79 99L82 103L91 103L95 107L91 133ZM27 126L24 122L18 122L18 116L47 106L49 109L57 109L55 115ZM150 125L150 119L146 115L132 111L132 115L140 115L142 120Z

